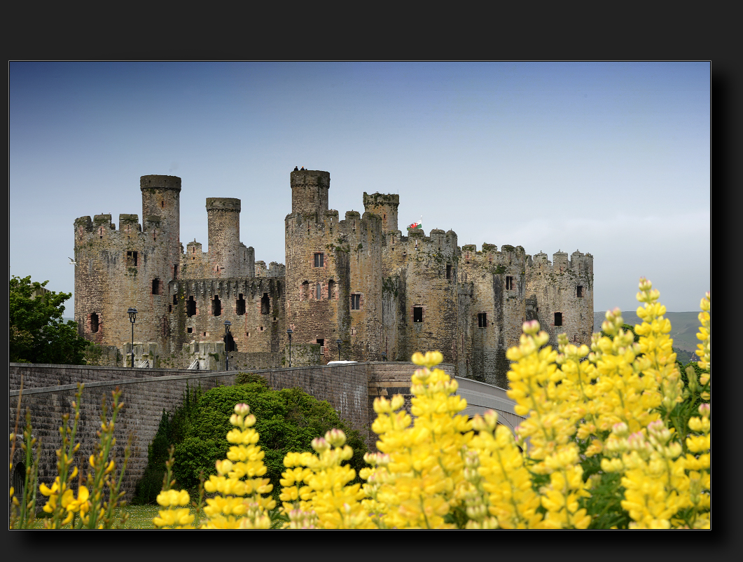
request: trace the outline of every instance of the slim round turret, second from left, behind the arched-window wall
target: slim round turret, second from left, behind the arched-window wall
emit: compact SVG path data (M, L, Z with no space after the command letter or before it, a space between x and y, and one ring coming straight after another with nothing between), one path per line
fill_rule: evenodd
M240 200L207 197L209 262L212 274L236 277L240 271Z

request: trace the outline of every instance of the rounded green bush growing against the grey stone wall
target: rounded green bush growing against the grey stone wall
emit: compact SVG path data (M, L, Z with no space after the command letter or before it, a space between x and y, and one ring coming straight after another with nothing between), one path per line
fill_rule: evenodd
M199 395L184 397L184 406L172 414L163 413L163 420L148 450L148 465L137 483L134 503L152 503L160 492L165 475L169 445L175 445L173 475L178 486L190 491L198 488L199 474L216 474L215 462L224 459L230 444L225 439L233 428L230 416L235 404L250 406L256 416L258 444L265 453L265 477L273 484L278 497L279 479L284 457L291 451L311 451L312 439L322 437L337 427L348 436L347 443L354 456L348 461L360 471L366 443L357 430L351 430L326 401L318 401L300 389L272 390L265 378L253 373L239 373L233 387L217 387ZM359 480L360 482L360 480Z

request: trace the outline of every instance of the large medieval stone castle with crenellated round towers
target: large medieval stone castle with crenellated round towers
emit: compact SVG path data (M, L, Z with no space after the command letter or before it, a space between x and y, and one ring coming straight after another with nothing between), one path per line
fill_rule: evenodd
M539 320L557 346L590 343L593 256L534 256L521 246L457 245L454 231L398 229L398 195L363 194L365 212L328 209L330 174L291 172L285 265L240 242L240 200L207 198L208 251L180 241L181 178L140 178L142 222L121 214L74 222L75 320L150 367L258 369L409 361L438 349L461 377L507 387L505 352ZM225 336L225 321L231 323ZM291 329L291 352L290 334ZM340 340L340 343L338 343Z

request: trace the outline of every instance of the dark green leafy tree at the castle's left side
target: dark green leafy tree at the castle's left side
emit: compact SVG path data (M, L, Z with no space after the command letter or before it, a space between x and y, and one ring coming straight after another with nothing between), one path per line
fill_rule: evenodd
M10 362L85 364L90 342L77 334L77 323L62 320L71 293L45 289L48 281L10 279Z

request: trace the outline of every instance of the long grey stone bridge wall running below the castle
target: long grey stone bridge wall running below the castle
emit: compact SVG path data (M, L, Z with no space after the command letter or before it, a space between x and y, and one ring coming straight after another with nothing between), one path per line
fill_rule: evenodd
M451 374L452 369L449 366L442 367ZM376 416L372 408L374 397L402 393L406 396L409 408L410 376L415 368L415 365L409 363L357 363L254 372L266 378L273 389L298 387L319 400L328 401L342 419L366 437L373 450L374 434L371 433L370 427ZM77 433L77 441L82 444L80 456L76 459L79 468L82 468L80 459L87 459L93 453L94 444L98 440L96 433L100 429L103 396L108 397L110 406L111 391L116 387L122 390L121 401L125 405L116 423L117 444L113 458L120 467L124 448L131 433L131 456L123 481L126 500L131 500L134 487L146 468L147 448L157 433L163 410L172 411L181 406L186 385L190 389L201 386L202 390L209 390L218 385L231 385L234 384L236 371L194 372L111 366L10 364L11 430L15 425L22 376L21 410L22 412L27 408L30 410L33 436L41 439L39 479L47 485L51 485L56 477L54 451L61 446L59 425L62 423L62 415L73 411L71 404L77 392L77 383L85 383ZM23 427L25 421L22 417L17 433L22 434ZM21 459L19 450L19 448L16 450L14 459L16 463Z

